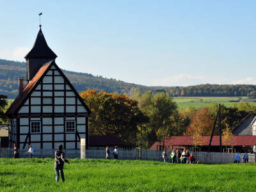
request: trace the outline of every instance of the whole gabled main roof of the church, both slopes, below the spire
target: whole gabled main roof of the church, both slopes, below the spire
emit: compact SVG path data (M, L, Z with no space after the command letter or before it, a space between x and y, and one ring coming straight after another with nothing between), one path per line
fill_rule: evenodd
M74 86L72 86L70 81L68 81L67 77L65 76L65 74L63 74L63 72L58 67L58 65L56 65L55 61L52 60L52 61L49 61L49 62L45 63L44 65L42 65L42 67L38 70L38 72L35 74L33 79L31 81L29 81L29 83L25 86L25 88L23 89L23 92L21 94L19 94L18 97L16 97L16 99L13 101L13 103L10 106L10 108L8 109L8 111L6 111L6 115L8 117L12 117L12 116L17 115L19 109L23 106L24 102L26 102L26 100L28 99L29 95L31 95L33 90L35 90L36 85L42 80L42 78L48 72L48 70L52 67L52 65L54 65L56 70L58 70L58 72L60 72L61 76L65 79L65 81L67 82L68 86L70 86L72 91L76 94L76 97L80 100L81 104L86 109L88 115L90 115L91 111L88 108L88 106L86 106L86 104L84 104L83 99L77 93L77 91L74 88Z

